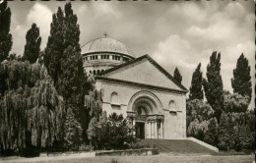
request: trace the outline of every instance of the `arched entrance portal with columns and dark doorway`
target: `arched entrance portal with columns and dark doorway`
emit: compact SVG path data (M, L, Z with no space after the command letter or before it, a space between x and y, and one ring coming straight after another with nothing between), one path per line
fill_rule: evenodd
M163 110L152 92L135 93L128 104L127 117L138 138L163 138Z

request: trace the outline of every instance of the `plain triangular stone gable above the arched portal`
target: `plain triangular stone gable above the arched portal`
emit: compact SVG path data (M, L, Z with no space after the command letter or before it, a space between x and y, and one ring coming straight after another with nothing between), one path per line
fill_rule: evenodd
M155 86L184 90L181 86L171 81L147 57L116 70L106 72L103 77L121 81L132 81Z

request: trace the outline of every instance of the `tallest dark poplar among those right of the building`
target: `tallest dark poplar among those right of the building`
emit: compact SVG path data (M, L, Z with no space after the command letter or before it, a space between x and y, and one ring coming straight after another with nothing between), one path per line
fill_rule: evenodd
M221 53L213 52L210 64L207 66L207 80L203 80L207 101L215 111L215 117L220 120L224 109L224 85L221 76Z

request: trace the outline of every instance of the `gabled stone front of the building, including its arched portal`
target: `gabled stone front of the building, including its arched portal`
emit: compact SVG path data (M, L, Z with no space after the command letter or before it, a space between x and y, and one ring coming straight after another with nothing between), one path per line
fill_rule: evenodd
M129 118L140 138L186 137L187 89L148 55L96 77L102 109Z

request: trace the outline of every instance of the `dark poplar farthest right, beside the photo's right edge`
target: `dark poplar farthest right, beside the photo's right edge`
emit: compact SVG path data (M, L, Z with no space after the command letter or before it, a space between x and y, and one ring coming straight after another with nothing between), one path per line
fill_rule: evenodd
M248 59L243 54L237 60L236 68L233 70L233 78L231 84L234 93L248 96L251 101L252 96L252 83L250 76L251 68Z

